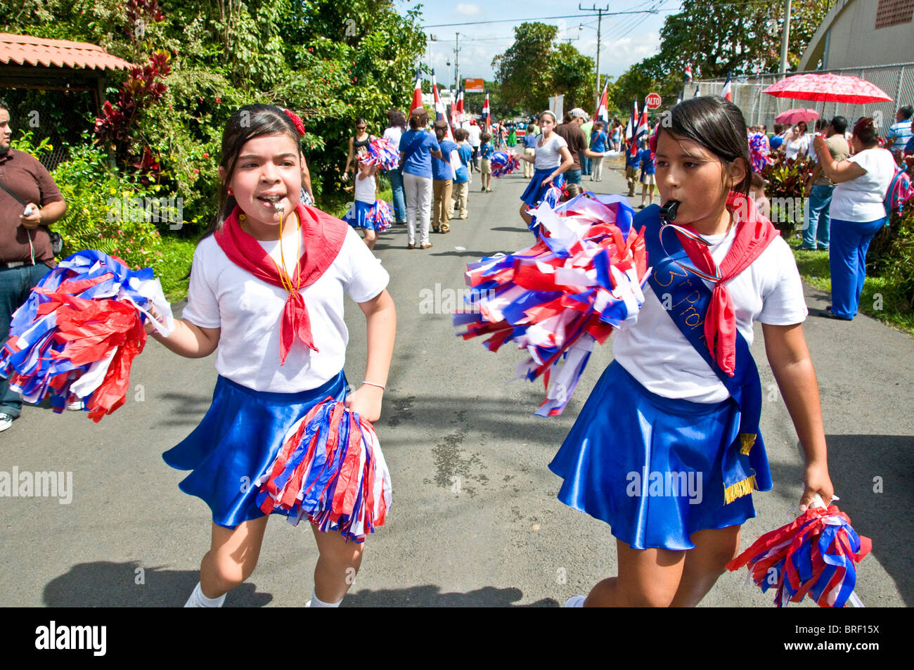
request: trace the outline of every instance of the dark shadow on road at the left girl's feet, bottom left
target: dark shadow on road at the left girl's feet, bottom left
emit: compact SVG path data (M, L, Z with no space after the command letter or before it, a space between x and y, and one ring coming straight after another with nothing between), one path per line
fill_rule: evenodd
M139 563L80 563L50 580L42 600L48 607L183 607L197 570L143 568ZM251 582L232 590L226 607L263 607L273 600Z

